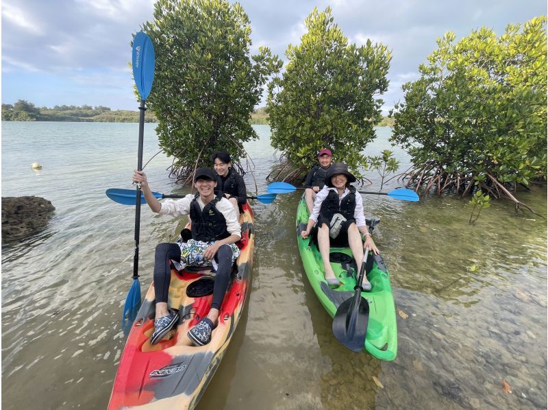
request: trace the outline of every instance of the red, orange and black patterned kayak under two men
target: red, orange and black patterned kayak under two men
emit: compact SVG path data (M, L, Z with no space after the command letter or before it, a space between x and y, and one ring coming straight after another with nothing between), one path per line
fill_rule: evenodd
M232 279L221 304L219 324L206 346L189 346L186 333L208 314L212 294L188 296L189 287L206 283L211 287L211 268L177 272L171 269L168 304L179 310L177 326L156 345L151 345L155 294L151 284L122 353L109 409L192 409L219 366L240 319L249 291L253 265L253 213L249 204L240 215L242 239ZM201 282L200 282L201 281ZM208 286L209 285L209 286Z

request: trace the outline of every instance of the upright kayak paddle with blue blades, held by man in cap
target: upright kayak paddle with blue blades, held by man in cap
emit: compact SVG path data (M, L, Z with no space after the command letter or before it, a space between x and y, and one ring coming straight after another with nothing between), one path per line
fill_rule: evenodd
M139 106L139 147L137 155L137 169L142 169L142 140L145 132L145 101L152 89L154 80L154 46L152 40L144 32L138 32L133 39L132 50L132 68L133 77L137 86L137 91L141 97ZM125 299L122 319L128 319L133 322L141 304L141 285L139 283L138 265L139 265L139 229L141 202L138 200L141 192L141 185L137 184L135 204L135 236L134 236L134 257L133 257L133 284L129 288L127 298Z

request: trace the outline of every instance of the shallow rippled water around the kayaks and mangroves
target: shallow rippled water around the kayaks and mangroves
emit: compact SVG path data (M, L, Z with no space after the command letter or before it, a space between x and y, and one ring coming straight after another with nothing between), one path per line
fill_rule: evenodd
M2 249L2 406L105 408L125 343L120 317L131 285L134 214L104 191L131 187L137 125L2 126L2 196L39 195L57 208L45 232ZM268 127L256 130L261 139L246 147L264 193L275 158ZM390 129L377 134L368 154L390 148ZM406 154L393 150L406 169ZM146 124L145 160L157 151ZM29 168L35 161L42 171ZM154 191L184 191L167 178L170 164L160 155L145 169ZM378 178L368 176L368 190L378 189ZM254 186L250 175L246 182ZM545 187L519 195L546 215ZM399 352L388 363L354 354L332 336L297 251L298 199L297 191L253 206L249 302L199 409L546 407L545 219L497 202L469 225L466 200L433 195L413 204L364 195L366 214L382 219L375 242L396 307L408 315L397 316ZM142 211L143 293L154 246L176 226Z

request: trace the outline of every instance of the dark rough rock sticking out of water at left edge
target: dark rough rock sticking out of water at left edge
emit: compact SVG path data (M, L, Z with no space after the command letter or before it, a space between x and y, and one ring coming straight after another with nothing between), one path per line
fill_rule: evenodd
M41 197L2 197L2 243L45 230L55 206Z

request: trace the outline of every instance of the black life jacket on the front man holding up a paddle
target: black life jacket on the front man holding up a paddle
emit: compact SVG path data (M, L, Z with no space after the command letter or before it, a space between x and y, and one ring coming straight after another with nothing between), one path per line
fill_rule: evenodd
M200 209L198 204L199 193L190 202L190 219L192 220L192 239L195 241L220 241L230 236L227 230L227 221L216 203L223 195L219 194L211 202Z

